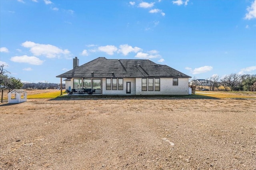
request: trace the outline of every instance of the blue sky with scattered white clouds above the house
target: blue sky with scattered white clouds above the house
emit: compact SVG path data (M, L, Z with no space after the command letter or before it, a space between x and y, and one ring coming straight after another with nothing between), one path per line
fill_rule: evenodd
M23 82L98 57L198 79L256 74L256 0L0 0L0 64Z

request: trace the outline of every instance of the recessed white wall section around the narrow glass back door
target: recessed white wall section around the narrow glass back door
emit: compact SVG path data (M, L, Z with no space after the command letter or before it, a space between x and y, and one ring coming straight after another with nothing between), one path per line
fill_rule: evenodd
M102 94L124 95L126 94L126 82L131 82L131 94L136 94L135 78L123 78L123 90L106 90L106 78L102 78Z

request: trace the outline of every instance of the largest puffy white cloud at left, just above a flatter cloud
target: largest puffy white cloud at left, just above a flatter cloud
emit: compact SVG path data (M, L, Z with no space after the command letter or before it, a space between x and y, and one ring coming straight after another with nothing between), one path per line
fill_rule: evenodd
M46 55L47 58L59 57L61 54L68 55L70 51L68 49L60 49L50 44L37 44L32 41L26 41L22 43L23 47L30 48L30 52L36 56Z

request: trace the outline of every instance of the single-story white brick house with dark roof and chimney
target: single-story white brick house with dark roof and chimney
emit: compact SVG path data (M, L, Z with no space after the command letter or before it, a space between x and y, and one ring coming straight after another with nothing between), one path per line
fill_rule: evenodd
M56 77L66 78L66 89L95 89L102 95L188 95L190 76L148 59L99 57Z

